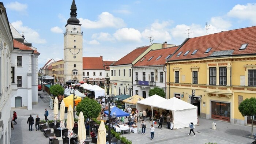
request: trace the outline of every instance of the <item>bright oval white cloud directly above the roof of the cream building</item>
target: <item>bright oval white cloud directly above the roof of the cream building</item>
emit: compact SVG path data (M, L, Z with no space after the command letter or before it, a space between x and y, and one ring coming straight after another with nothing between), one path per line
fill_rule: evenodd
M142 35L140 31L135 30L133 28L123 28L116 31L113 34L114 38L118 41L129 41L129 42L140 42Z

